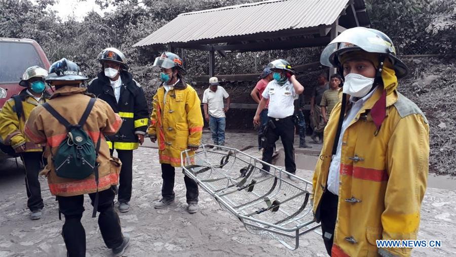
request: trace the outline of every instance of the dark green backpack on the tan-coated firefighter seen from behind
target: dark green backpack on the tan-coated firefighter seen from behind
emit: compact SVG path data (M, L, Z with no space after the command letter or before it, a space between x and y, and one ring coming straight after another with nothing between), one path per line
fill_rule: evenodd
M84 131L83 125L89 117L96 99L91 98L78 124L70 124L49 103L43 107L52 114L67 131L66 138L60 143L57 152L52 155L55 173L58 177L82 180L90 175L95 175L97 192L95 196L92 217L95 218L98 207L98 165L96 161L100 150L101 133L98 136L96 147L89 135ZM51 152L52 154L52 152Z

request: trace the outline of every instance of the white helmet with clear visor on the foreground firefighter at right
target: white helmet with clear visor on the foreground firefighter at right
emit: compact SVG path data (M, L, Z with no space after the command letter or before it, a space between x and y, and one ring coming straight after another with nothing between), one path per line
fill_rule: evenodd
M393 64L398 78L407 75L407 65L397 58L391 38L382 31L372 28L355 27L340 33L323 50L320 62L325 66L336 68L341 55L360 50L385 55Z

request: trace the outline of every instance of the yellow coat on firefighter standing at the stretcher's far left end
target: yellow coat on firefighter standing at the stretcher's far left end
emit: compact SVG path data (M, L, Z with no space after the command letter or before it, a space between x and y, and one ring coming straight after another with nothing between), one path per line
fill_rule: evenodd
M174 88L166 95L160 87L153 98L153 110L147 133L158 139L160 163L180 167L180 153L189 146L198 147L203 135L203 115L198 94L190 85ZM189 155L193 155L191 151Z

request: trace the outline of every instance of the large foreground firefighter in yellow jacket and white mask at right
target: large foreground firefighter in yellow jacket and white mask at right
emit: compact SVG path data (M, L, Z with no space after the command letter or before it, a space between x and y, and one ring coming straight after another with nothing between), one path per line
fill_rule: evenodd
M429 125L397 91L407 66L381 31L356 27L323 50L345 76L313 178L314 215L332 256L409 256L376 240L416 239L429 167Z

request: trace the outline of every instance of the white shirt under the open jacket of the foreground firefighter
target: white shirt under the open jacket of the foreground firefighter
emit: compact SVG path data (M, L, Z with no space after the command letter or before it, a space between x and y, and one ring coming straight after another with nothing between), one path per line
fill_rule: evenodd
M350 97L350 102L352 102L352 108L347 112L345 116L344 122L342 123L342 129L340 130L339 141L337 144L336 154L332 156L331 164L329 165L329 175L328 175L328 183L327 187L329 192L339 195L339 181L340 181L340 158L342 153L342 140L344 138L345 131L347 130L348 126L352 122L352 120L356 117L356 114L363 108L364 103L372 97L373 93L378 88L372 90L369 94L365 97L358 99L354 97Z

